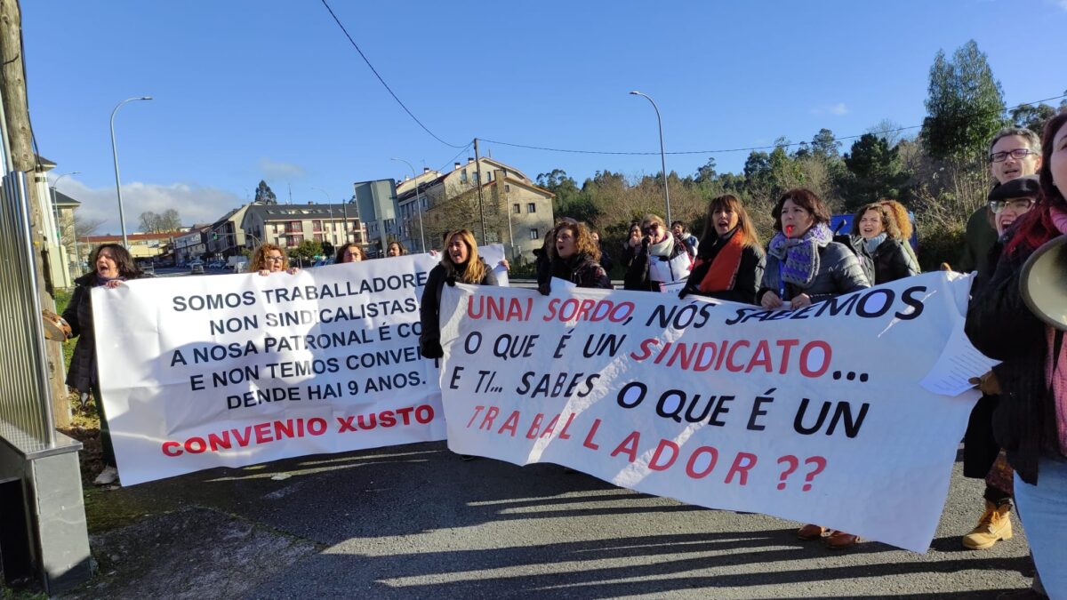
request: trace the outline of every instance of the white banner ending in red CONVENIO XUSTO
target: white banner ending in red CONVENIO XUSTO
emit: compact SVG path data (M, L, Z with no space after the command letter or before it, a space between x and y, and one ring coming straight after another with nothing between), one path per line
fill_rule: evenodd
M123 484L443 439L437 366L418 353L436 263L419 254L94 289Z

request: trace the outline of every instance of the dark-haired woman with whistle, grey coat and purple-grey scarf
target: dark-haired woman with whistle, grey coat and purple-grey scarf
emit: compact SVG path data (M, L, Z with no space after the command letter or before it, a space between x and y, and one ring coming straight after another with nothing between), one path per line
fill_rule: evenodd
M871 286L853 251L833 241L830 212L817 195L806 189L790 190L778 199L771 215L777 233L767 250L758 296L763 307L779 309L790 302L790 307L802 309ZM797 537L821 539L825 533L826 527L808 524L797 531ZM826 546L849 548L858 541L853 534L832 531Z

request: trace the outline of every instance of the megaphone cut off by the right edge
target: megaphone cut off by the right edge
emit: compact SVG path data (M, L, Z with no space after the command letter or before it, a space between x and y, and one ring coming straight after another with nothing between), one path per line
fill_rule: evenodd
M1067 235L1045 242L1026 258L1019 289L1039 319L1067 331Z

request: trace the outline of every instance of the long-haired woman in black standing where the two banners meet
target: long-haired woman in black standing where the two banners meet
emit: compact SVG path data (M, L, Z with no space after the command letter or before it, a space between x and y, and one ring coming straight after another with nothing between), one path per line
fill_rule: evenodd
M460 230L448 235L441 264L430 270L423 288L423 301L418 307L423 332L418 336L418 351L428 359L445 356L441 347L441 290L445 283L456 282L473 285L496 285L496 277L481 257L474 234Z

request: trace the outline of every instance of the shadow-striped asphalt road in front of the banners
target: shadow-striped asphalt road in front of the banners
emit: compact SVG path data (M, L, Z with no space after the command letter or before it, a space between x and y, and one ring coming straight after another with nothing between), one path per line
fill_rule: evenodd
M68 597L1031 597L1014 516L1010 541L960 546L983 489L960 468L925 554L831 551L795 522L464 462L443 442L213 469L91 491L94 521L121 526L93 535L100 573Z

